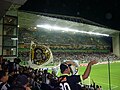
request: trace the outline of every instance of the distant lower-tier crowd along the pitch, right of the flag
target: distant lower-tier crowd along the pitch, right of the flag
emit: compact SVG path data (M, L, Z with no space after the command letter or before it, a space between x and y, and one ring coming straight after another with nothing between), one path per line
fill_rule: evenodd
M119 57L117 57L113 53L53 53L54 62L59 62L62 60L79 60L82 63L87 63L91 60L97 59L99 62L103 61L114 61L114 60L120 60Z

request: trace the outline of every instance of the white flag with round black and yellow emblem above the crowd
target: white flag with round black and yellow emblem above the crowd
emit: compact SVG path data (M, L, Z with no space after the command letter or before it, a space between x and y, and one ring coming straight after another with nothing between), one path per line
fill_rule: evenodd
M42 68L53 62L52 52L49 47L45 45L37 45L34 42L31 42L30 52L31 55L28 64L32 68Z

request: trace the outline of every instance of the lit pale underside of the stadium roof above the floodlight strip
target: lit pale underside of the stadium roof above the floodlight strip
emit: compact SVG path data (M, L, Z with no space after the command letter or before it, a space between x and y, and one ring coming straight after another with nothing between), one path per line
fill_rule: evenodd
M94 26L94 25L85 24L85 23L73 22L70 20L47 17L43 15L38 15L38 14L19 12L18 15L19 15L19 26L21 28L27 28L32 31L42 29L42 28L37 28L36 27L37 25L48 24L51 26L76 29L76 30L86 31L86 32L97 32L102 34L109 34L110 36L113 36L114 33L119 32L117 30L112 30L112 29L103 28L103 27Z

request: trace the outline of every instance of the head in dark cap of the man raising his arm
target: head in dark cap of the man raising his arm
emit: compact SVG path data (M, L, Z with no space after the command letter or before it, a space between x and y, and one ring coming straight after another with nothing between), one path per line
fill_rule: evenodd
M70 66L71 66L71 64L62 63L62 64L60 65L61 73L62 73L62 74L70 74L70 72L71 72Z

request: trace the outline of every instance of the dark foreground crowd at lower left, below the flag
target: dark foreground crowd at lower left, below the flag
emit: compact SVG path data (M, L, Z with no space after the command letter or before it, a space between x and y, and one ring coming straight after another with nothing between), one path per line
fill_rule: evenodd
M0 90L51 90L57 86L54 72L47 69L33 69L19 65L20 59L14 62L3 59L0 63ZM57 90L57 89L56 89Z

